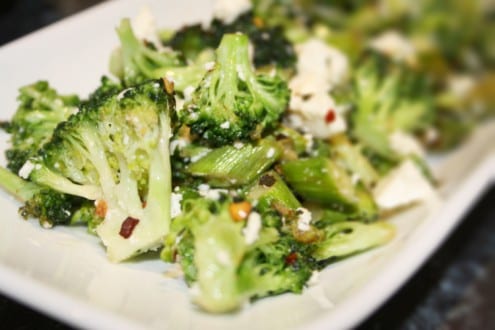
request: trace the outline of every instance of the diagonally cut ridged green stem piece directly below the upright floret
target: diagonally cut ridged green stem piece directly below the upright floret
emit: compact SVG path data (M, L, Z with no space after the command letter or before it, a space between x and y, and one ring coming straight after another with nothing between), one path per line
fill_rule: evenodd
M275 163L280 155L280 146L271 139L261 140L256 146L224 146L191 163L187 172L205 178L212 186L237 187L252 182Z

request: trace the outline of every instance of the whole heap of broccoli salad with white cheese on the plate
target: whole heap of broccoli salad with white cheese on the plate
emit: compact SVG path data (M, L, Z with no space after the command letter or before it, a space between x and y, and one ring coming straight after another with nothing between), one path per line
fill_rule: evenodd
M19 89L0 186L112 262L160 251L205 311L301 293L390 242L391 215L436 198L426 153L492 114L483 6L216 0L176 30L145 9L89 96Z

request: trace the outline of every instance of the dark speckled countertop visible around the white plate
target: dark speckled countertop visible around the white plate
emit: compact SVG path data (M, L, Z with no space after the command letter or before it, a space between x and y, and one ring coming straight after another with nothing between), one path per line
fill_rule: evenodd
M2 0L0 45L98 0ZM439 250L359 329L495 329L495 187ZM0 294L5 329L70 328Z

